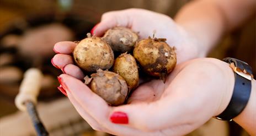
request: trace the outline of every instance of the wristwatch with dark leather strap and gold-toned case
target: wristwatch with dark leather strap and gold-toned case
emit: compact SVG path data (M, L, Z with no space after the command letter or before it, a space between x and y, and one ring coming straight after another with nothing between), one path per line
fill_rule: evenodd
M227 108L218 116L217 119L232 121L246 107L252 89L252 68L243 61L236 58L224 58L223 61L230 64L234 71L234 90Z

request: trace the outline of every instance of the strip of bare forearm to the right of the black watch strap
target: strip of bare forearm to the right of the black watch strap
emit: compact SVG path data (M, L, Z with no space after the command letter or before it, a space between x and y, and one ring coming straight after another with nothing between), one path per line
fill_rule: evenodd
M250 135L256 135L256 81L252 81L252 91L246 108L234 118Z

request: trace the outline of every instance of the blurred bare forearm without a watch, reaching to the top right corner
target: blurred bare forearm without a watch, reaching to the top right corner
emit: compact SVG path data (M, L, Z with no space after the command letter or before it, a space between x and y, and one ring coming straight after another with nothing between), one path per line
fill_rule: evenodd
M175 17L200 42L207 53L221 36L241 25L254 14L255 1L193 1L186 4Z

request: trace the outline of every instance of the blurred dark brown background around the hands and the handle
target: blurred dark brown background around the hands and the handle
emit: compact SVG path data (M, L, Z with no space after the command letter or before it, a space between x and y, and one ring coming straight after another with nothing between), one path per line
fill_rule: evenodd
M76 41L100 21L104 12L144 8L170 17L188 0L0 0L0 135L35 135L27 113L14 105L25 70L40 68L38 110L50 135L109 135L95 132L57 90L61 71L51 65L58 41ZM218 43L209 57L230 56L248 62L255 76L255 18ZM211 119L188 135L248 135L234 122Z

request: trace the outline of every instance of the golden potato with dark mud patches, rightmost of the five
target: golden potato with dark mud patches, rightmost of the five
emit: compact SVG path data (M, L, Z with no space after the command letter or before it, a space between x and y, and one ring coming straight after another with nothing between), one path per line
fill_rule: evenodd
M177 63L174 47L170 47L166 39L149 37L137 42L134 57L146 73L157 76L164 82Z

